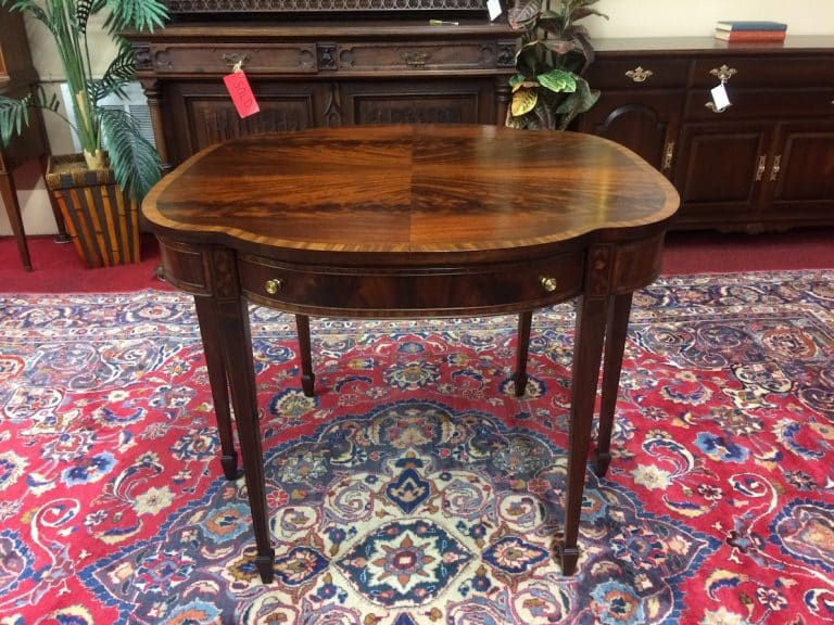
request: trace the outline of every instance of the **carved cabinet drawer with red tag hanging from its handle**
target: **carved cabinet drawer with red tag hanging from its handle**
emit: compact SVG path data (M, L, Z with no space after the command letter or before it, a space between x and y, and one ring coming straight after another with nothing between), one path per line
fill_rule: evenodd
M232 46L173 44L153 49L153 65L160 74L214 74L231 72L241 62L248 74L315 74L313 43Z

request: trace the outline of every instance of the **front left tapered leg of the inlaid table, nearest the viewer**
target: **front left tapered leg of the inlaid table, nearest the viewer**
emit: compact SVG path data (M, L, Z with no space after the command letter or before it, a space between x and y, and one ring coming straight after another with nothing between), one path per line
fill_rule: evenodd
M261 447L261 423L257 419L255 368L252 361L252 336L249 329L249 306L245 299L215 299L217 328L223 337L231 403L238 424L243 474L247 479L252 526L257 556L255 566L264 584L273 581L275 550L269 539L264 455Z

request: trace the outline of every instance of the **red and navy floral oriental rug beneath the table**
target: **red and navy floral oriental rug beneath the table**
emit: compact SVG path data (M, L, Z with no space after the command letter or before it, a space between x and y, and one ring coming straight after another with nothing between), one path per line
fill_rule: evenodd
M605 479L561 575L573 307L294 319L253 307L275 576L223 479L191 299L0 296L0 624L834 621L834 280L635 294Z

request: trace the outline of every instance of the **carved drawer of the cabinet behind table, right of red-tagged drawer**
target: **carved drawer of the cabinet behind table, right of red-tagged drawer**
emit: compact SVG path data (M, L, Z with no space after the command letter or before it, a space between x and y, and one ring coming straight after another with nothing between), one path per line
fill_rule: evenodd
M420 72L427 69L492 69L496 66L494 43L339 43L337 67L351 72Z

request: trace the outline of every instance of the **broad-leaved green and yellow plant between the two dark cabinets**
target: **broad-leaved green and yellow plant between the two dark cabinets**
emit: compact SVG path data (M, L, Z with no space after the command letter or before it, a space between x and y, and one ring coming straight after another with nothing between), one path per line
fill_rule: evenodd
M578 22L607 15L593 9L598 0L518 0L509 25L521 34L507 126L564 130L599 98L582 77L594 60L587 29Z

